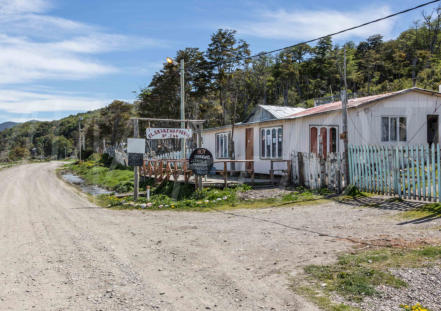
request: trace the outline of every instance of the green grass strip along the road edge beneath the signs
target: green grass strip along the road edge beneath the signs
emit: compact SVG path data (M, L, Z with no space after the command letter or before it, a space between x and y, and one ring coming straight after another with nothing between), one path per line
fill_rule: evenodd
M118 192L126 193L133 191L133 170L114 168L112 161L101 158L97 155L91 156L87 161L66 164L64 170L73 172L82 177L87 184L94 184L100 187ZM146 183L151 182L151 180ZM150 183L153 185L153 183ZM143 188L145 185L141 185ZM239 192L251 190L250 186L239 185L226 189L204 188L195 191L194 185L164 181L160 185L151 188L150 200L141 197L137 202L133 198L117 198L113 195L100 196L96 202L101 206L114 209L182 209L193 211L212 211L244 209L244 208L265 208L276 206L292 206L318 204L324 202L325 195L329 191L311 192L305 189L298 189L292 193L279 198L268 198L260 200L243 200L238 196ZM141 206L141 204L145 204Z

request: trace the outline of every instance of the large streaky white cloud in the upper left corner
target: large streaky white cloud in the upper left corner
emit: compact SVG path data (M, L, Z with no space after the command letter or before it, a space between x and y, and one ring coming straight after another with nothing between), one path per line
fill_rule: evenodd
M163 42L48 15L47 0L0 0L0 85L87 79L118 72L99 54Z

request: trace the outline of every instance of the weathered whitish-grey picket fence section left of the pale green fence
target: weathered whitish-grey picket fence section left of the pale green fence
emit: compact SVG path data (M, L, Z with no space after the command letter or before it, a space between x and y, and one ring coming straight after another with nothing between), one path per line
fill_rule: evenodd
M328 188L341 192L346 186L344 158L341 154L331 153L326 158L315 153L294 152L292 160L292 182L296 186L309 189Z

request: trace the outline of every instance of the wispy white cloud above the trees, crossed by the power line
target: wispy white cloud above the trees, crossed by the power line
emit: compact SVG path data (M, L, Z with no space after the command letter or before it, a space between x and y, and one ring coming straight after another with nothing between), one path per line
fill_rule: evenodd
M353 27L364 22L390 14L387 6L365 8L357 11L336 10L265 10L256 14L254 21L233 25L241 34L262 38L307 40ZM393 28L393 20L388 19L366 27L352 30L339 36L368 37L381 33L387 37Z

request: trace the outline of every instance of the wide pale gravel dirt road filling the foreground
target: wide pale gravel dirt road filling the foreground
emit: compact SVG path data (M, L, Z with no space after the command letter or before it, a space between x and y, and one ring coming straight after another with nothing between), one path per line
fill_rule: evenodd
M440 238L434 222L321 206L233 212L112 211L55 175L0 171L1 310L316 310L290 290L309 263L382 236Z

